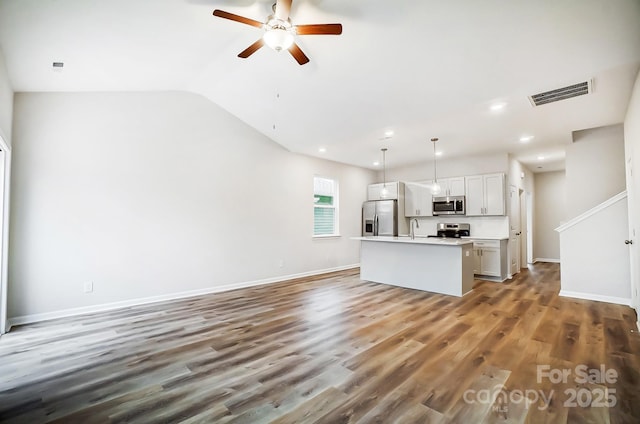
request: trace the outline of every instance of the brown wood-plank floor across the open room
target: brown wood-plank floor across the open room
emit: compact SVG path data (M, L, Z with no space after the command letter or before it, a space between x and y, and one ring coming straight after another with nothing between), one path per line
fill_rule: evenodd
M26 325L0 422L640 422L635 314L559 287L554 264L463 298L352 270Z

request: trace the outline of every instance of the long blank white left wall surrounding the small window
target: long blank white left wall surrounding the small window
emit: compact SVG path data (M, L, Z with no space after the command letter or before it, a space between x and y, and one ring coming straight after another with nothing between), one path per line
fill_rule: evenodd
M375 173L289 153L203 97L19 93L14 116L10 317L359 262ZM316 174L339 181L340 238L311 237Z

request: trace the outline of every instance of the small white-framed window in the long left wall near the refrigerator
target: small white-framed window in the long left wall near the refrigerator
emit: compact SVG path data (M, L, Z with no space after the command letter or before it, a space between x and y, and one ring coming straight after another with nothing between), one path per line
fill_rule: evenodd
M313 235L338 235L338 182L313 177Z

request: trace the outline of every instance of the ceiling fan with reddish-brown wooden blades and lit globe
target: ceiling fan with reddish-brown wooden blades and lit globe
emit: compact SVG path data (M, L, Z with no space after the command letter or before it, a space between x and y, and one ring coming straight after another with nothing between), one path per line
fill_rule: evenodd
M277 0L273 5L273 15L267 17L267 21L262 23L244 16L235 15L216 9L213 15L219 18L230 19L246 25L251 25L265 30L262 38L244 49L238 57L246 59L255 53L265 44L275 51L288 50L291 56L300 64L309 62L309 58L295 43L293 36L297 35L340 35L342 34L341 24L313 24L313 25L293 25L289 19L291 2L293 0Z

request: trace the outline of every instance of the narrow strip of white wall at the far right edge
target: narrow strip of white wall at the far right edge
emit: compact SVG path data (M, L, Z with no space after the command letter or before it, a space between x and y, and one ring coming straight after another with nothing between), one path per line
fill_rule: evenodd
M633 175L627 178L629 195L629 217L631 218L630 237L634 244L630 247L634 286L633 304L640 323L640 73L636 77L631 100L624 121L624 141L627 166L633 169Z

